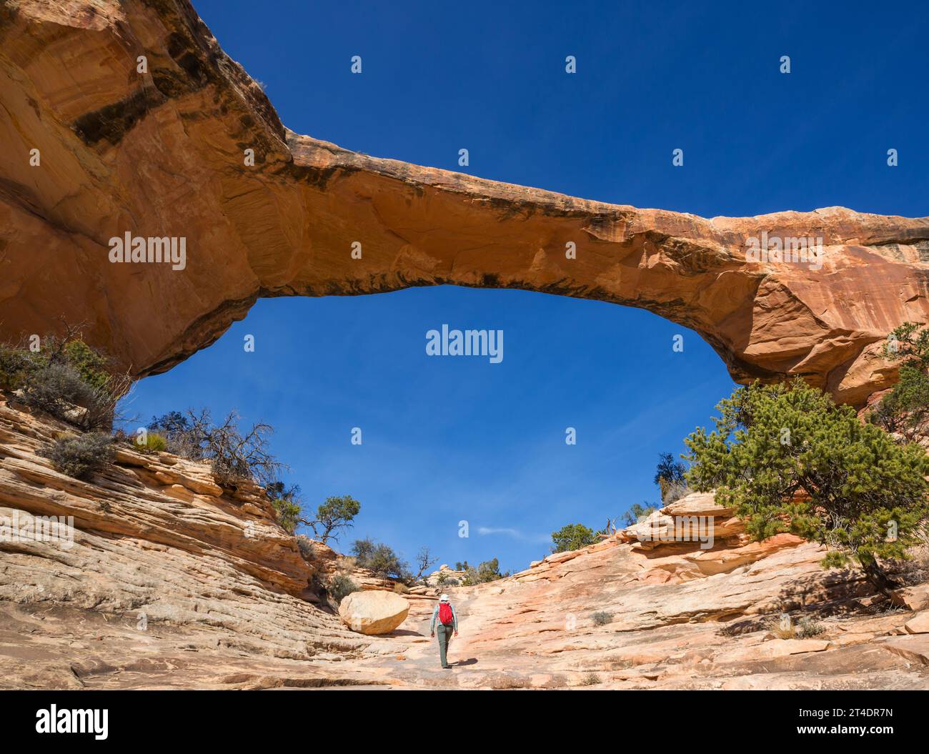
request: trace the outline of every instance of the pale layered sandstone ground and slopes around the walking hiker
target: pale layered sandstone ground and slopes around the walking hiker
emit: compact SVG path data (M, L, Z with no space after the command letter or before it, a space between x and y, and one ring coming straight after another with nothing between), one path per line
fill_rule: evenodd
M407 595L385 636L353 633L314 585L341 567L301 551L254 487L121 446L90 482L37 454L64 431L0 400L0 517L73 516L71 546L0 541L0 688L929 688L929 584L896 604L818 545L748 542L712 496L656 514L714 516L713 547L635 527L514 576L446 589L461 635L451 670L428 635L434 590ZM356 569L363 588L386 586ZM595 612L611 614L595 625ZM822 631L779 638L783 615Z

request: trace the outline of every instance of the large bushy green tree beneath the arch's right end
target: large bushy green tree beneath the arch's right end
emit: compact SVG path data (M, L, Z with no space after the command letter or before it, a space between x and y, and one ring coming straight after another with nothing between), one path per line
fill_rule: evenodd
M894 582L879 559L906 559L929 514L929 458L899 445L855 409L797 378L740 387L715 429L687 437L687 479L735 508L753 539L790 531L830 548L823 565L856 560L872 585Z

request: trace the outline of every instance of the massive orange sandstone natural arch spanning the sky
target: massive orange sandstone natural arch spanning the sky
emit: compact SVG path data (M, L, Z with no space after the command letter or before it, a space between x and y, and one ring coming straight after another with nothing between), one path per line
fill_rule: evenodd
M929 218L704 219L343 150L285 128L187 0L7 0L0 97L0 335L86 321L137 375L262 296L451 283L647 308L738 381L862 404L895 379L886 333L929 321ZM747 262L765 232L821 239L821 267ZM125 233L185 239L184 269L111 263Z

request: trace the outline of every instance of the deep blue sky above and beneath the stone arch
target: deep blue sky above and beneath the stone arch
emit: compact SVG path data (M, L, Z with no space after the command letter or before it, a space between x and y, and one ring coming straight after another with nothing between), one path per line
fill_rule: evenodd
M286 125L351 150L705 216L927 214L920 4L194 5ZM504 330L504 361L426 357L425 331L443 322ZM440 562L520 569L553 529L656 500L658 454L682 451L731 388L699 336L648 312L442 287L259 302L138 383L128 409L274 424L309 505L361 501L342 549L370 535L410 560L428 545Z

